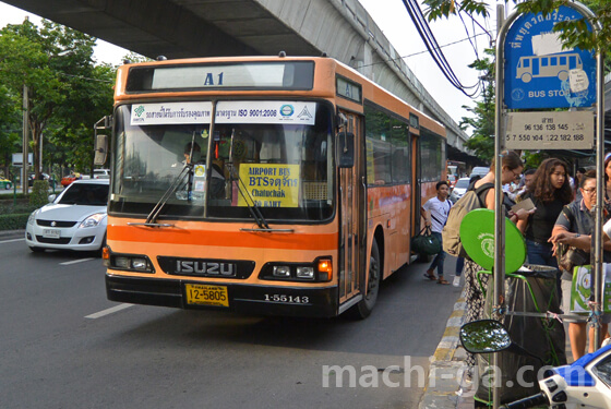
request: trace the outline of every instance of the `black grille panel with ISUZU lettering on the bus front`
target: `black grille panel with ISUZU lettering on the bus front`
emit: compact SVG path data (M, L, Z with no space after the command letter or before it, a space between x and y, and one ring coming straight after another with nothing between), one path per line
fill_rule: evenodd
M254 262L248 260L190 258L157 256L166 274L197 277L248 278L254 270Z

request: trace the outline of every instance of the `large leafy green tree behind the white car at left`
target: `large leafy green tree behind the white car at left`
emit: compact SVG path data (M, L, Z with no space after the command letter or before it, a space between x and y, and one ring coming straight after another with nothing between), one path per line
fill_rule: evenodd
M0 31L0 82L15 104L21 104L24 86L28 89L37 178L44 133L49 142L56 136L55 143L69 147L67 157L73 163L85 166L87 158L91 166L92 127L112 107L113 76L113 68L94 64L94 37L49 21L40 28L26 20Z

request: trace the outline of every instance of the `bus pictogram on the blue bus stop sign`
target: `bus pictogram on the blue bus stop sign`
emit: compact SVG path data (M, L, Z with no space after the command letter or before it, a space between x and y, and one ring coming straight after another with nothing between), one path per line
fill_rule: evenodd
M520 79L524 83L529 83L534 77L553 76L566 81L570 70L583 70L583 68L582 58L576 52L526 56L519 58L516 79Z

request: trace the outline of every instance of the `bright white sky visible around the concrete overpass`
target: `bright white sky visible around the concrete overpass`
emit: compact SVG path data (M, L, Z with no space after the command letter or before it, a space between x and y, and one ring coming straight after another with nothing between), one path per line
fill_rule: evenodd
M411 19L404 5L403 0L359 0L366 8L378 26L382 29L386 38L397 50L399 56L404 57L404 61L409 69L416 74L416 77L422 83L424 88L433 96L440 106L456 121L459 122L462 117L470 116L470 113L462 108L462 106L475 106L475 101L465 96L460 91L456 89L444 76L441 70L435 65L433 59L427 51L424 43L418 35ZM503 0L500 0L504 3ZM421 2L421 0L419 0ZM496 0L488 0L490 5L490 21L480 22L487 29L495 36L496 31ZM422 11L424 7L421 5ZM507 13L508 14L508 13ZM39 23L40 17L26 13L23 10L0 2L0 27L7 24L20 24L25 15L29 15L29 20ZM467 22L470 35L474 34L472 25ZM457 17L430 23L431 32L441 46L450 67L464 85L474 85L478 81L479 72L469 69L467 65L472 63L477 55L474 46L466 40L468 35L462 22ZM479 50L480 56L484 48L489 47L489 38L481 35L482 29L477 27L475 33L480 34L474 39L475 47ZM106 41L98 40L94 58L98 62L108 62L115 65L121 63L122 57L129 51L110 45Z

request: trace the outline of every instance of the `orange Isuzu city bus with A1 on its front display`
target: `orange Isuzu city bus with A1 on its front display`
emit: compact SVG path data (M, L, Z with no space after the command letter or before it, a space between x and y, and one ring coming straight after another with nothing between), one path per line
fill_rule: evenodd
M444 128L331 58L125 64L115 103L113 301L366 317L445 177Z

